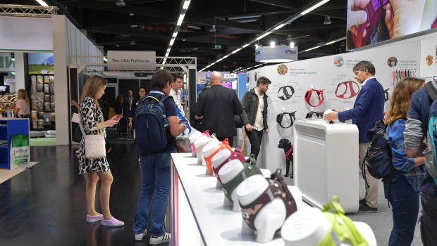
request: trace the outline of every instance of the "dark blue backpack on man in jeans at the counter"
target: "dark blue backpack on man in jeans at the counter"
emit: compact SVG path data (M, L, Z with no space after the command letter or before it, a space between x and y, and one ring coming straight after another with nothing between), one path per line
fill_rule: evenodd
M142 150L157 151L166 148L168 143L168 121L164 101L168 96L159 100L152 93L143 96L138 101L135 111L135 138Z

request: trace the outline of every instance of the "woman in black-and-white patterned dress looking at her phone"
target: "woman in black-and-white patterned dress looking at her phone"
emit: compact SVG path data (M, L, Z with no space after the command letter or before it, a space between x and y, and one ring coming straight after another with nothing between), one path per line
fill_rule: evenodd
M99 98L105 93L108 81L97 75L93 75L83 88L80 98L80 123L87 135L104 135L106 127L112 127L118 122L118 115L104 122L104 116L99 105ZM113 176L109 168L108 160L104 158L85 157L85 141L82 138L79 148L80 167L79 174L87 173L87 222L101 221L104 226L123 226L123 221L118 221L111 215L109 210L109 195ZM102 214L94 208L97 181L100 179L100 205Z

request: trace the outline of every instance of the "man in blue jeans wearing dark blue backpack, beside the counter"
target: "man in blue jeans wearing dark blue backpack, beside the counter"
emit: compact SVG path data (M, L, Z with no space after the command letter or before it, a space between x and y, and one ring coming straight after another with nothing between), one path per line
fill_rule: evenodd
M170 177L170 154L176 153L176 136L181 134L187 126L178 124L176 112L176 104L173 98L168 97L173 84L173 76L168 70L156 70L152 76L151 86L152 91L139 101L137 113L135 114L135 131L137 131L137 145L140 147L140 167L142 172L142 186L140 197L137 202L137 212L135 213L135 224L133 231L135 240L141 241L144 235L147 234L148 218L150 212L150 244L156 245L161 242L171 240L171 233L166 233L164 228L164 220L167 209L167 198L170 192L171 177ZM147 98L149 96L149 98ZM155 99L156 98L156 99ZM156 138L149 139L149 131L141 131L140 129L162 129L162 126L152 126L152 118L144 118L139 114L143 107L141 104L158 100L164 105L164 125L168 122L166 131L166 145L160 150L150 150L149 148L156 147ZM144 109L147 111L147 109ZM158 112L158 111L156 111ZM140 115L140 117L137 117ZM153 116L150 116L153 117ZM140 120L144 119L144 122ZM163 119L162 116L160 119ZM137 120L139 120L137 122ZM146 123L147 122L147 123ZM153 134L153 133L152 133ZM152 135L151 134L151 135ZM141 143L142 142L142 143ZM151 143L148 145L147 143ZM156 143L156 144L154 144ZM147 147L141 147L147 146ZM148 147L150 146L150 147ZM153 203L152 203L153 198ZM151 206L152 204L152 206Z

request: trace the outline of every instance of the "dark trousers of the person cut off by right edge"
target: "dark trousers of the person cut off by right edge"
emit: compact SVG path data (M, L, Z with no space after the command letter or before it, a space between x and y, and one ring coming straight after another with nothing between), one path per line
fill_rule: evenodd
M421 193L420 234L424 246L437 245L437 195Z

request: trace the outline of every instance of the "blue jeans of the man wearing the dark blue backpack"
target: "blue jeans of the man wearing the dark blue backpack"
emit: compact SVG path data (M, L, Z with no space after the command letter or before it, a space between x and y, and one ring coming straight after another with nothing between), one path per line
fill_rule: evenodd
M175 152L176 149L140 156L142 185L135 213L135 224L133 225L135 234L143 233L144 229L147 228L149 211L151 212L150 233L156 236L166 233L164 220L171 186L170 154Z

